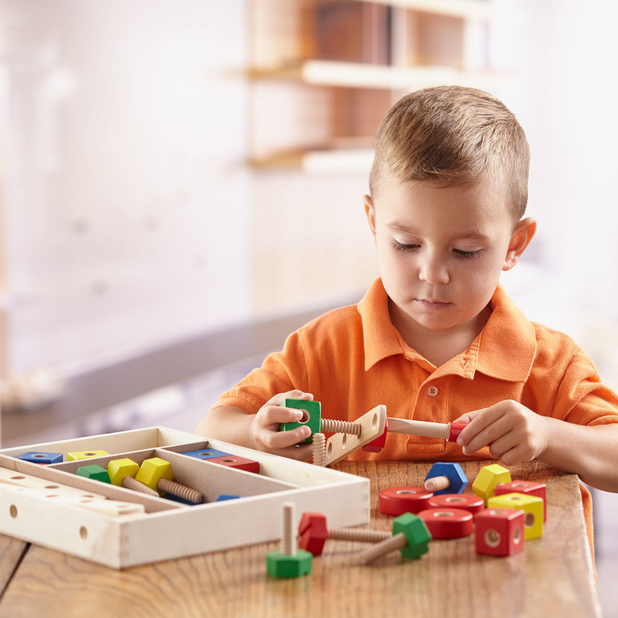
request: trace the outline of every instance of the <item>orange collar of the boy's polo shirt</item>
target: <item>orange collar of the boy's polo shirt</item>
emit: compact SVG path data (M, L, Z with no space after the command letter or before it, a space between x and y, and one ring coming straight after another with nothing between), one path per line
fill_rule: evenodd
M357 309L363 323L365 371L389 356L405 354L432 367L420 354L410 349L392 325L388 295L382 280L376 279ZM472 379L475 371L510 382L525 382L536 353L536 336L532 324L498 285L489 301L491 316L481 334L470 347L441 368L439 373L454 373Z

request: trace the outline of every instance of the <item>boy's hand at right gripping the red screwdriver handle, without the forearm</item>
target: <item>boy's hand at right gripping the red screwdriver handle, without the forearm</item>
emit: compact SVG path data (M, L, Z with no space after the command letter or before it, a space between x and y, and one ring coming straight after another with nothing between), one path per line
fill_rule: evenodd
M505 465L536 459L549 443L548 420L512 400L467 412L453 422L468 423L457 438L464 455L489 446L489 454Z

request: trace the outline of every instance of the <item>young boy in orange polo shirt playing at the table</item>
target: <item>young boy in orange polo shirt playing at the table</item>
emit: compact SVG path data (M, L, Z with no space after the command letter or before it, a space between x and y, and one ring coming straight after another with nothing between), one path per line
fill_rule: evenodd
M528 143L493 96L463 87L400 99L376 139L365 213L378 250L363 300L292 333L197 432L310 459L309 433L279 407L319 400L324 418L468 423L457 444L389 434L350 459L538 459L618 491L618 398L564 334L530 323L499 285L535 234L523 218Z

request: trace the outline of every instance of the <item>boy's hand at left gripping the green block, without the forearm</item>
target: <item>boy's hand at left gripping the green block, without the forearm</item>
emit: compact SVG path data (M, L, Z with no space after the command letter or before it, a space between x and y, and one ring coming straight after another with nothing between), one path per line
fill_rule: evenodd
M279 404L285 399L313 400L313 395L302 391L282 392L271 397L253 418L249 426L249 436L257 451L268 451L274 455L290 457L305 461L311 459L313 447L311 444L295 446L308 438L311 430L307 425L297 427L295 430L279 431L281 423L293 423L303 417L302 410L295 408L282 408Z

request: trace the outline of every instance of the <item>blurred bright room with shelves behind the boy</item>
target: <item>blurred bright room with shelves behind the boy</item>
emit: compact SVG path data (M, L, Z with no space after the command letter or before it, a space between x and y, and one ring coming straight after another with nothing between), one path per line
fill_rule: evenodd
M618 388L609 0L0 0L2 447L193 431L377 275L373 137L483 88L530 141L538 234L502 279ZM618 616L616 494L594 492Z

